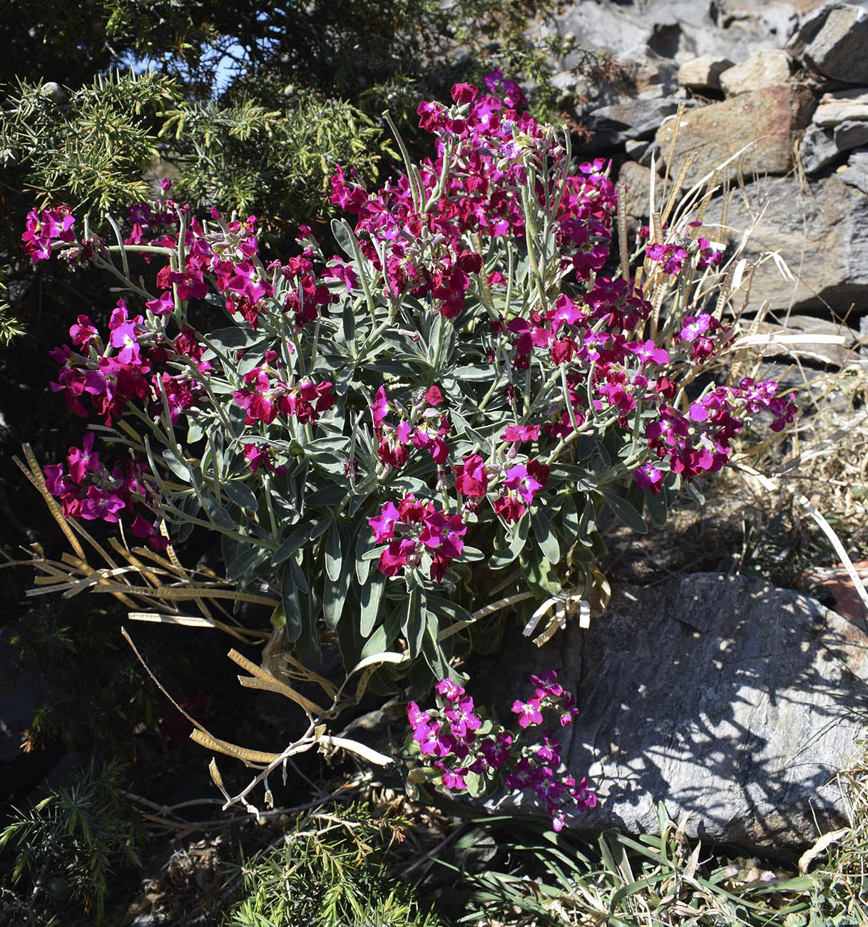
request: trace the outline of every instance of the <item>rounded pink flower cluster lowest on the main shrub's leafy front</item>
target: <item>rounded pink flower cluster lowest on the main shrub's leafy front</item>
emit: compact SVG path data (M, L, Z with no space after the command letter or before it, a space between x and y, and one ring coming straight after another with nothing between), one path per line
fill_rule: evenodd
M440 582L464 550L467 527L461 515L441 512L432 502L419 502L413 493L404 496L397 506L387 502L377 517L368 519L368 525L377 544L389 542L377 564L387 577L397 576L406 566L421 566L425 553L431 560L430 577Z

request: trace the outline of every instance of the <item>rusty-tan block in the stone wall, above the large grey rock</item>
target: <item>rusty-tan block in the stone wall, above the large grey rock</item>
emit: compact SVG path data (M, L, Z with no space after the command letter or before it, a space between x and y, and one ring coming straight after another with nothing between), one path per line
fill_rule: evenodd
M745 171L786 173L793 165L794 142L808 125L813 108L811 91L789 84L692 109L684 114L670 171L678 171L686 154L696 151L687 174L689 187L753 142L742 156ZM657 132L664 158L669 157L674 128L674 120L670 120ZM734 168L731 163L731 173Z

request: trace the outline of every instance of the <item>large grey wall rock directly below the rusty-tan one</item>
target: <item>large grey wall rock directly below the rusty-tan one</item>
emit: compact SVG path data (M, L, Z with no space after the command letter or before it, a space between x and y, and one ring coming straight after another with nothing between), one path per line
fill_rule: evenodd
M811 181L808 189L796 177L768 177L747 184L744 193L732 197L727 230L716 225L721 203L712 202L703 234L735 245L761 213L744 256L756 261L777 252L796 277L786 280L766 257L751 281L751 307L768 300L772 311L831 307L842 316L855 302L857 314L868 310L868 199L856 186L838 174Z

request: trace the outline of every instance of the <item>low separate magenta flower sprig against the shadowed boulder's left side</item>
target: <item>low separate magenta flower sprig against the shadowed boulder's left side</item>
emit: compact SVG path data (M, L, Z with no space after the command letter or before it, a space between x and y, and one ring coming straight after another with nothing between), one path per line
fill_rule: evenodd
M475 773L490 785L502 781L514 792L530 789L545 806L554 830L560 831L568 804L587 811L596 805L596 795L588 790L587 780L577 782L558 771L562 757L556 738L543 735L542 741L525 743L526 731L542 724L543 711L555 711L562 727L571 724L578 713L574 697L564 691L554 670L531 676L530 681L536 687L533 697L513 705L520 730L483 722L473 699L452 679L437 684L438 708L422 711L411 702L407 719L420 755L431 757L431 766L440 773L445 788L466 789L468 773Z

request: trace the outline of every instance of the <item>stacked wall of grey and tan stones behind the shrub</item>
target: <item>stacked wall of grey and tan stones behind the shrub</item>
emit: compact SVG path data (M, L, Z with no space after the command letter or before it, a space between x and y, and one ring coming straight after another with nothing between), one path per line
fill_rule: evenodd
M776 252L798 278L763 264L748 309L768 300L772 311L842 317L852 304L858 329L868 315L868 3L576 0L555 28L643 74L641 92L593 89L570 78L573 57L557 81L581 100L576 118L593 133L587 154L612 157L621 179L642 184L628 192L634 227L649 219L652 163L673 177L695 155L686 190L747 146L719 177L742 186L720 240L739 241L760 216L747 257ZM708 218L719 222L723 211L712 204Z

